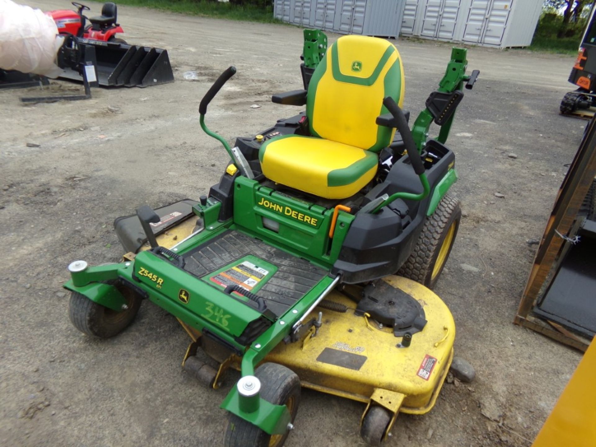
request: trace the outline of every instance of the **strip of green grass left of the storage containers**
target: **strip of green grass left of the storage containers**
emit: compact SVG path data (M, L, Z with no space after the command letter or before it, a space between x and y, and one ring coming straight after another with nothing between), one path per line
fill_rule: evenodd
M271 0L231 0L225 3L216 0L117 0L117 4L231 20L282 23L273 17Z

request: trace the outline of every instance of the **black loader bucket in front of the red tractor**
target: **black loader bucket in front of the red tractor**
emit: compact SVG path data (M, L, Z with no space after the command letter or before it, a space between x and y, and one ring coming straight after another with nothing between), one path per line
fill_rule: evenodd
M174 80L165 49L92 39L79 39L79 45L94 46L100 85L147 87ZM83 80L72 69L65 69L60 77Z

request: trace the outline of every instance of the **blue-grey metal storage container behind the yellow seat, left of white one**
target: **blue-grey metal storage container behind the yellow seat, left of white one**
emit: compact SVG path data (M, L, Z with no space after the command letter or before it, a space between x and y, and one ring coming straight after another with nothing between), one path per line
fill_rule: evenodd
M280 20L340 34L395 37L405 0L275 0Z

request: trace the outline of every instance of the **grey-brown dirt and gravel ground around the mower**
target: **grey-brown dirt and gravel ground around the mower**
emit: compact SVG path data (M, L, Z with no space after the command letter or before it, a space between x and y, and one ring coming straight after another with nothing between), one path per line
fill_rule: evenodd
M91 7L99 13L100 4ZM218 181L226 155L201 132L197 109L226 67L238 73L210 105L207 122L230 141L296 113L269 97L300 88L302 30L132 7L119 7L119 23L127 41L168 50L176 82L94 89L88 101L29 106L18 97L36 89L0 92L2 445L221 443L219 403L237 375L217 391L188 377L180 367L187 336L151 303L114 339L83 336L70 324L61 284L72 260L119 260L117 216L141 204L197 198ZM405 107L415 116L443 75L451 46L396 45ZM573 57L470 48L468 60L481 75L465 92L448 141L457 154L454 193L464 219L436 292L455 317L456 355L476 367L477 378L446 384L427 415L400 415L388 447L529 446L581 358L512 324L537 247L527 240L541 237L585 126L558 114ZM187 71L200 80L184 80ZM80 85L51 86L73 90ZM303 390L287 446L362 445L363 410Z

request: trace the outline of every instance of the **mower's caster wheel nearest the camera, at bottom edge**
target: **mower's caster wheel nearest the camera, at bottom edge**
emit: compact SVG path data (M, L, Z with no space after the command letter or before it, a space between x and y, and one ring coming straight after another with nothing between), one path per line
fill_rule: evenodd
M275 405L285 405L294 422L300 402L300 379L288 368L275 363L265 363L254 371L261 383L260 396ZM281 447L290 433L267 434L259 427L234 415L228 415L224 433L225 447Z

